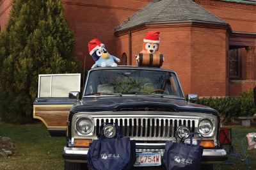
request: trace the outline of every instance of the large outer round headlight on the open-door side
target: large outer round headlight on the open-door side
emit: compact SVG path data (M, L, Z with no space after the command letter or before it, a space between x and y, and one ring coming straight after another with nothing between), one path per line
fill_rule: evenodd
M77 121L77 130L83 135L90 134L93 130L92 120L90 120L88 118L84 118L84 119Z

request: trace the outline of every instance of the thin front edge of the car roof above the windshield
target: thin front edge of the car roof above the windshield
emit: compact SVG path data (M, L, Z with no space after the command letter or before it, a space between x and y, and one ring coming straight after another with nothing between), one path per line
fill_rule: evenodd
M163 68L158 68L158 67L152 67L152 66L127 66L127 65L118 65L118 66L104 66L104 67L95 67L92 68L91 70L115 70L116 68L118 69L131 69L131 70L154 70L154 71L161 71L161 72L174 72L173 70L168 70L168 69L163 69Z

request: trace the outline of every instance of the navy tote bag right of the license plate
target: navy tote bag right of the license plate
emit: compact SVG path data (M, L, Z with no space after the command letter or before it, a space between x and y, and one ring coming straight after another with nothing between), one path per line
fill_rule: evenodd
M190 144L182 143L183 139L181 139L180 142L176 139L176 143L166 141L163 158L166 169L200 169L204 147L200 146L200 143L202 142L201 134L200 141L197 144L192 144L192 135L195 134L199 133L189 133Z

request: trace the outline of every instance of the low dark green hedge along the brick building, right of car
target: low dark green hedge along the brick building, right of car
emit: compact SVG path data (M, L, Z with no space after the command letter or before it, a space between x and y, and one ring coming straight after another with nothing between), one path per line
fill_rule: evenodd
M221 118L227 121L256 113L252 91L242 93L241 97L200 98L196 103L216 109L220 112Z

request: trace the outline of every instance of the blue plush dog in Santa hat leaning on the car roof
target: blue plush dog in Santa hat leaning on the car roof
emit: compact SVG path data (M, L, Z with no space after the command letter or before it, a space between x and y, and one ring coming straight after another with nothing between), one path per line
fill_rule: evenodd
M101 43L98 38L93 38L90 42L88 42L88 49L90 55L95 61L92 68L97 66L117 66L115 61L120 62L119 58L116 58L108 53L105 45Z

